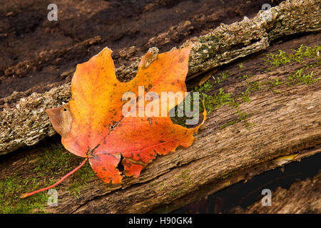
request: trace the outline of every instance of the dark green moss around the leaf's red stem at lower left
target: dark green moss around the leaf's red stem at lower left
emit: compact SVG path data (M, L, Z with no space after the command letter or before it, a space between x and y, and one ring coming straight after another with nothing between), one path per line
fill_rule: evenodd
M27 157L31 162L32 177L21 177L18 173L0 180L0 213L41 213L44 212L48 200L47 192L39 192L26 199L20 195L53 185L63 175L77 167L83 161L63 148L61 144L52 144L39 154ZM70 185L66 188L78 196L82 187L94 176L91 166L87 163L80 170L68 177ZM68 180L65 180L65 182ZM59 185L55 187L59 189Z

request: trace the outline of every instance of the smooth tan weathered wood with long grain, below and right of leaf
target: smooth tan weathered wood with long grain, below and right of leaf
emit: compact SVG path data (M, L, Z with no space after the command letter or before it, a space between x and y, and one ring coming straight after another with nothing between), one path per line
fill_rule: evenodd
M270 51L290 51L304 43L320 45L320 33L293 39L270 48ZM220 87L229 93L244 89L243 74L255 75L250 80L280 78L285 80L302 64L289 63L265 73L263 54L252 56L238 64L222 69L230 77ZM321 75L321 67L313 68ZM217 90L218 88L214 88ZM253 175L281 165L285 155L298 154L293 160L321 152L321 80L309 85L277 86L282 93L273 93L263 86L253 95L250 103L241 103L240 110L248 113L247 121L254 125L250 131L245 121L221 128L238 113L223 106L208 115L208 120L195 134L195 142L187 149L178 149L159 156L148 165L138 179L125 177L121 185L107 185L97 177L81 189L78 198L63 186L58 190L58 207L47 207L54 213L146 213L170 212L204 195L216 192ZM282 161L280 163L280 160ZM9 175L17 167L22 176L24 158L6 167ZM19 165L20 164L20 165Z

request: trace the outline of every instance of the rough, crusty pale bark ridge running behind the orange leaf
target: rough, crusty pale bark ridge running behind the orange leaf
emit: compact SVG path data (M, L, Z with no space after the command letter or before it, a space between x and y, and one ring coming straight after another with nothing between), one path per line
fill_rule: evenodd
M270 11L260 11L253 19L245 18L229 26L222 24L213 32L192 40L195 46L190 55L188 75L265 50L280 38L320 31L320 17L315 14L318 11L320 0L284 1ZM116 73L121 80L128 80L135 76L136 69L137 63L118 68ZM19 97L19 94L11 96ZM70 84L54 87L46 93L33 93L16 103L10 103L11 96L0 100L4 103L0 106L0 155L24 145L34 145L55 134L45 110L68 102Z

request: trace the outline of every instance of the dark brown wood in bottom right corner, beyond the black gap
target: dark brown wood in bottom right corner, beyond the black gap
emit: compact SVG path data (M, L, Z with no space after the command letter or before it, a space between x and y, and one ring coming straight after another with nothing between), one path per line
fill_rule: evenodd
M297 180L286 190L277 187L272 192L272 205L263 207L258 201L246 209L235 209L236 213L320 214L321 172L307 180Z

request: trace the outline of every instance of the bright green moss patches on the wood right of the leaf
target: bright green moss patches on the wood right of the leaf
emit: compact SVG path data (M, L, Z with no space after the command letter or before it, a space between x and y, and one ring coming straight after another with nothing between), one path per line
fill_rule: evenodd
M269 63L272 67L282 66L292 61L297 63L302 63L306 58L317 58L317 53L320 52L321 46L308 47L301 45L297 50L293 50L292 53L286 53L285 51L279 50L278 54L267 54L267 58L265 61ZM303 69L313 68L316 66L320 66L321 61L317 58L317 63L310 63L306 65ZM240 63L240 68L243 68L243 63ZM267 69L265 72L270 71ZM213 77L213 81L209 80L205 82L202 86L198 86L195 88L191 88L192 92L200 93L200 102L205 100L205 109L208 114L212 113L213 110L221 108L223 105L230 105L235 109L235 112L238 113L238 119L230 120L228 123L223 124L220 128L226 128L229 125L233 125L235 123L243 122L245 123L245 128L250 130L250 128L255 125L253 123L249 123L246 119L248 118L248 113L243 113L240 111L239 102L250 102L250 95L255 92L262 90L263 85L268 85L267 90L272 90L273 93L282 93L280 90L275 89L275 87L282 85L287 82L288 86L293 83L297 83L297 85L305 84L310 85L311 83L315 83L320 78L313 77L313 71L310 73L302 73L303 70L299 70L296 73L292 73L287 81L281 81L280 78L274 78L272 81L260 81L253 80L254 76L249 76L247 74L240 76L241 79L245 79L246 86L245 90L241 92L240 95L234 95L233 93L226 93L223 88L218 90L218 93L210 93L213 90L214 85L220 85L223 81L226 80L230 76L228 71L221 73L217 77ZM192 93L193 100L193 93ZM200 103L200 113L203 112L203 105ZM193 110L193 108L191 108ZM172 118L173 123L185 126L185 120L187 118L178 118L177 112L175 113L175 117Z

